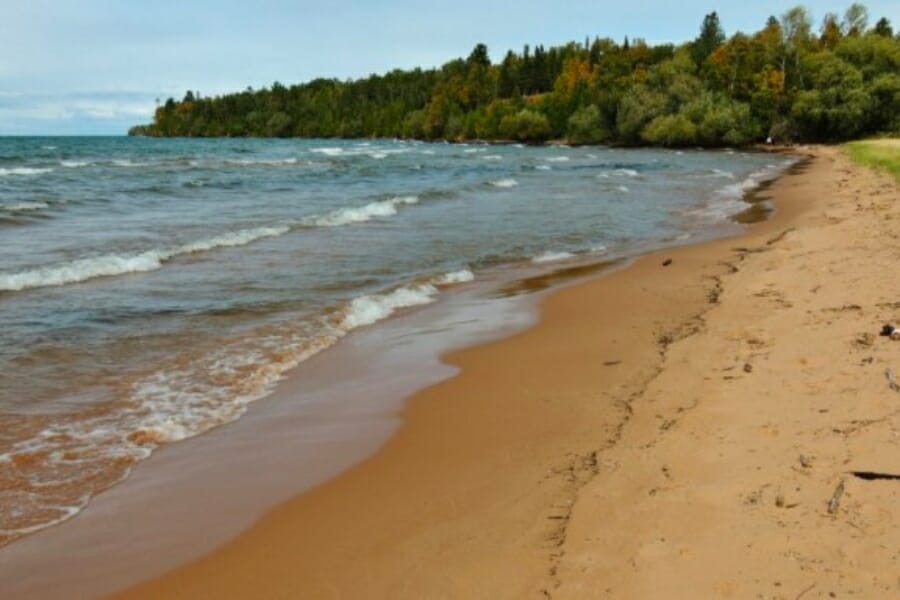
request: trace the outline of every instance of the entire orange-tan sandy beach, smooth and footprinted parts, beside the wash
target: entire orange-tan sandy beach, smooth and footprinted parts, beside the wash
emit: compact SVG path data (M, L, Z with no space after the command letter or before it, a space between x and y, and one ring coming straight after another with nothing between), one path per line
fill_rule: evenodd
M372 458L121 597L897 597L900 480L852 472L900 474L900 190L799 150L769 221L551 294Z

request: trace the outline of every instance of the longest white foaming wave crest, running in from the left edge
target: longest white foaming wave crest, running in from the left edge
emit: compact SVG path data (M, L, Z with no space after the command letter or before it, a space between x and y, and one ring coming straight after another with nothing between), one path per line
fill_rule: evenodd
M18 292L33 288L81 283L99 277L155 271L161 268L164 262L176 256L206 252L214 248L244 246L263 238L283 235L288 231L290 228L287 226L245 229L171 249L153 249L125 255L106 254L18 273L0 273L0 291Z

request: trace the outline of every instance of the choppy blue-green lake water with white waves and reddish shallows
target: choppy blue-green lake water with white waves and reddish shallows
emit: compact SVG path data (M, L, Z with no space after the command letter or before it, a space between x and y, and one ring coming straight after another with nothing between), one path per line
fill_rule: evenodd
M0 139L0 544L353 329L740 211L762 154Z

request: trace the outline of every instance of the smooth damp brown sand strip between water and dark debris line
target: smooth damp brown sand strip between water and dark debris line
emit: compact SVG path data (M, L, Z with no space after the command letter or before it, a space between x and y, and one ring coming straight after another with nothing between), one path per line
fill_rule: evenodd
M659 418L640 421L635 404L667 376L673 348L698 343L698 319L723 311L728 278L743 271L735 261L780 250L800 225L816 230L811 213L828 207L806 188L840 191L829 170L848 164L838 152L818 148L807 172L780 178L769 192L775 215L747 233L651 253L555 291L531 329L446 356L461 374L417 393L375 456L121 597L578 596L587 584L570 589L562 575L578 550L571 529L596 526L579 522L590 512L585 491L603 489L605 456L624 452L628 432ZM673 263L663 267L663 257ZM609 331L616 339L603 339ZM588 583L598 592L602 578Z

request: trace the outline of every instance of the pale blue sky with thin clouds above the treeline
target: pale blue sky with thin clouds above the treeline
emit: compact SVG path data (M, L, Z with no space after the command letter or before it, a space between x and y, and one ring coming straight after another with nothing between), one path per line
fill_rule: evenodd
M850 4L807 1L816 23ZM900 0L865 3L900 25ZM783 0L0 0L0 135L120 135L156 101L433 67L485 43L756 31Z

